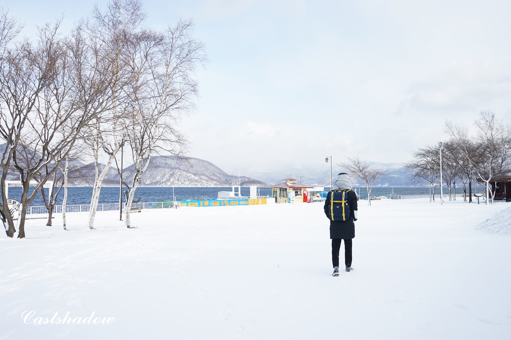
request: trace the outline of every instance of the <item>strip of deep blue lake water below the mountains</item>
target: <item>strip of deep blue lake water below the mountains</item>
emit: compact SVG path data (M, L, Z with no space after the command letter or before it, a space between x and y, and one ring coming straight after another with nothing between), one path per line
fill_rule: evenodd
M31 188L33 190L33 188ZM325 187L325 190L329 190L329 187ZM48 192L48 189L44 189ZM174 188L174 196L176 200L187 200L187 199L200 199L201 197L207 196L210 199L218 197L219 191L231 191L232 188L204 188L204 187L176 187ZM271 195L271 189L260 188L260 195ZM371 195L374 196L387 196L390 194L391 188L374 188ZM439 193L440 189L436 188L436 193ZM447 192L447 188L444 188L444 192ZM462 188L457 188L457 192L463 192ZM250 188L241 188L241 194L243 196L249 196ZM394 188L394 193L397 195L419 195L429 194L429 188ZM91 187L71 187L68 188L67 204L89 204L90 196L92 195ZM21 188L9 187L9 198L19 200L21 197ZM57 204L62 204L64 197L63 190L57 197ZM138 188L135 193L135 197L142 197L141 202L160 202L172 199L172 187L142 187ZM360 198L367 198L367 192L364 187L360 188ZM123 198L124 200L124 198ZM117 203L119 202L119 187L105 187L101 189L101 195L99 199L100 203ZM36 198L31 204L32 206L44 205L41 193L38 193Z

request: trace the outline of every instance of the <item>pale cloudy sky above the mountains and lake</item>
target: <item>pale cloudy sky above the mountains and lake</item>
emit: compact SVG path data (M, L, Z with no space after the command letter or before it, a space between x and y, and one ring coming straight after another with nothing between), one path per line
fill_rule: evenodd
M93 1L0 1L24 34ZM99 4L104 4L100 1ZM509 1L145 1L163 29L193 17L210 64L182 121L189 155L238 168L324 164L358 153L407 161L480 110L511 122Z

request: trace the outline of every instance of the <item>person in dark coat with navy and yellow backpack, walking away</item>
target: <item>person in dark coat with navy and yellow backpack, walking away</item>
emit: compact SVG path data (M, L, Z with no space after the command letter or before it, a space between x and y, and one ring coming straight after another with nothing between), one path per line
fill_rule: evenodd
M332 276L339 276L339 249L344 240L344 264L346 272L353 270L352 240L355 238L357 220L357 194L353 191L350 176L341 172L334 182L332 191L324 201L324 213L330 220L330 239L332 239Z

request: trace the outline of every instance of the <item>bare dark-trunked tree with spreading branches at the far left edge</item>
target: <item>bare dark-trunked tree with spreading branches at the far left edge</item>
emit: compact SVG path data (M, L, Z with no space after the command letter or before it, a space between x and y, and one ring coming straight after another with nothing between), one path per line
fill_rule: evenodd
M107 65L88 67L80 41L61 37L57 33L59 23L40 28L35 44L22 41L7 48L0 61L0 136L8 143L2 166L5 170L11 166L16 169L23 188L18 238L25 237L27 206L58 170L81 130L108 108L104 88L108 79L104 72L97 72ZM29 163L17 160L21 139L32 150ZM45 172L50 166L52 170ZM39 184L29 195L30 182L42 173ZM5 210L4 194L2 199ZM12 237L14 224L12 218L7 219L7 233Z

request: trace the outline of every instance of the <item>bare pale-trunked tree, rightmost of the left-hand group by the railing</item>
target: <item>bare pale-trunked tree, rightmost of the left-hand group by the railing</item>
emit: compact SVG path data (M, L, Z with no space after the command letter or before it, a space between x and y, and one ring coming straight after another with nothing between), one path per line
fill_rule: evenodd
M177 129L183 113L194 109L197 65L204 65L204 44L193 38L192 20L180 20L164 33L144 31L131 41L134 74L130 116L125 120L126 141L133 155L134 175L126 204L129 210L151 157L165 152L181 156L187 140ZM127 108L128 110L128 108Z

